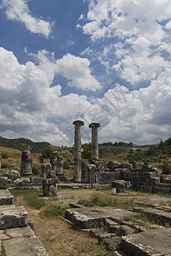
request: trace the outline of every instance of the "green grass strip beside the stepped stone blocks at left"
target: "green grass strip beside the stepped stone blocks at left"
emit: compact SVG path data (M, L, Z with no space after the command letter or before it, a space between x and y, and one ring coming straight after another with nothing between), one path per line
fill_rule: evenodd
M45 201L43 198L39 198L40 191L30 191L30 190L15 190L10 189L10 192L14 197L19 195L23 196L23 199L31 206L36 209L40 209L44 206Z

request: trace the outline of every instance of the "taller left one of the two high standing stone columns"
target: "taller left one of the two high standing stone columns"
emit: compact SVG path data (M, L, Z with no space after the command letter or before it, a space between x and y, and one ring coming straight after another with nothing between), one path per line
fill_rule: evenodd
M81 126L84 123L77 120L73 122L73 125L75 125L73 181L80 183L82 180Z

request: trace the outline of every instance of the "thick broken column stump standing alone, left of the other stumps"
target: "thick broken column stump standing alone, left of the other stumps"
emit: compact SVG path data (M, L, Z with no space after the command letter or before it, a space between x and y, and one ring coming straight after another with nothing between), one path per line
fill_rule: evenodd
M32 176L32 160L29 150L23 151L21 156L20 176Z

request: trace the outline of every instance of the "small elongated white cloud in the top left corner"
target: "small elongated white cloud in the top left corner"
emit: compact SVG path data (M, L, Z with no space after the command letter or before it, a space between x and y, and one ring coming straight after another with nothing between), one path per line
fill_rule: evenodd
M43 19L32 17L26 0L2 0L0 8L5 9L9 20L23 22L31 32L43 34L48 38L53 24Z

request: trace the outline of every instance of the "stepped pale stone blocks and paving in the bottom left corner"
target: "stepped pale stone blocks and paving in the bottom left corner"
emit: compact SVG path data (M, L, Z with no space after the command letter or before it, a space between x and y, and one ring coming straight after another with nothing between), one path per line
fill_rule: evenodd
M0 253L5 255L48 256L43 244L28 225L24 207L13 205L14 196L7 189L0 189Z

